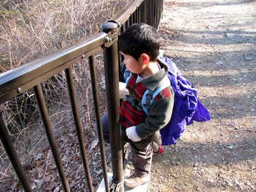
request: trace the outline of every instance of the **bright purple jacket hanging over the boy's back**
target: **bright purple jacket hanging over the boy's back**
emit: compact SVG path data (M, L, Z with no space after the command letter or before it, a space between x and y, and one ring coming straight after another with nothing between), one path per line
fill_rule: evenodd
M168 77L175 94L171 120L160 130L160 134L162 145L172 145L176 144L186 125L193 124L193 121L209 121L210 114L200 103L195 88L181 75L175 63L168 57L160 59L170 68Z

